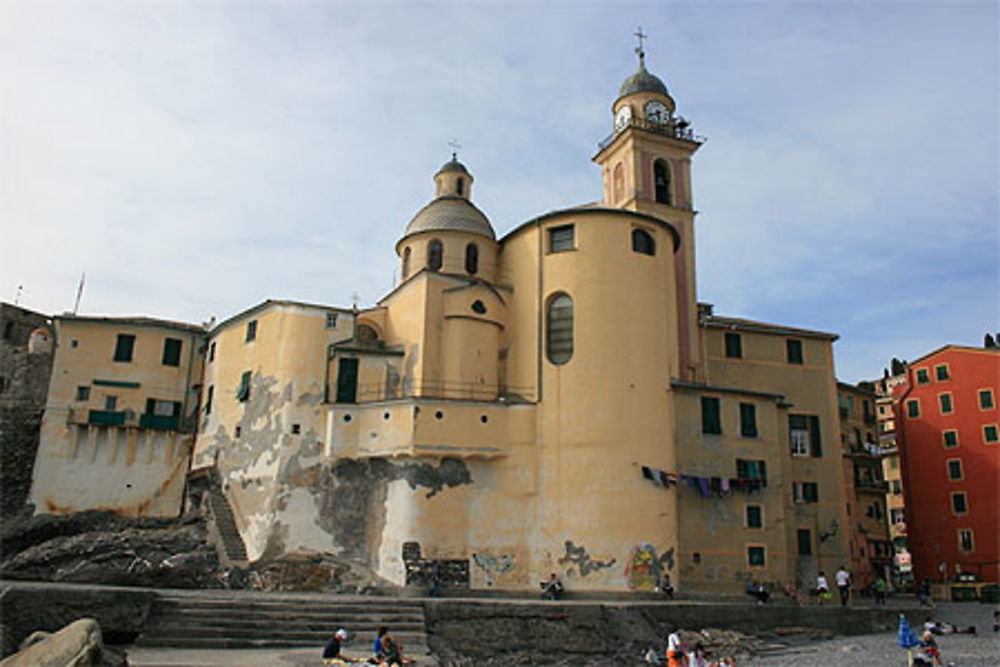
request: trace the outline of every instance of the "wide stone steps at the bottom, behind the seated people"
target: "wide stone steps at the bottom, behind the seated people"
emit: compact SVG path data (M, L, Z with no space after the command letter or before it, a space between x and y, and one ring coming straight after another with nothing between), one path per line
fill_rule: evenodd
M367 655L380 625L389 627L408 656L429 655L424 608L417 600L243 591L157 592L136 645L319 651L337 628L345 628L351 633L347 648Z

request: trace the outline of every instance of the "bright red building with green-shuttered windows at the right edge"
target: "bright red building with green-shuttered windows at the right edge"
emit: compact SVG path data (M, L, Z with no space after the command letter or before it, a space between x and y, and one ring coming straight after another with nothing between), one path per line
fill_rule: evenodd
M893 391L914 578L1000 575L1000 349L946 345Z

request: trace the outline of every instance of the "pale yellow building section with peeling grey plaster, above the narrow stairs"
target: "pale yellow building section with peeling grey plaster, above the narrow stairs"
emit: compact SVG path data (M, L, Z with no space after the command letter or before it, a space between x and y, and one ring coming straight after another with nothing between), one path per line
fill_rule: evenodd
M328 315L336 326L328 326ZM256 335L247 341L247 325ZM338 552L321 512L327 349L353 336L350 313L271 302L212 332L206 365L213 405L203 414L195 465L218 466L250 560L298 550ZM238 388L251 373L247 400Z

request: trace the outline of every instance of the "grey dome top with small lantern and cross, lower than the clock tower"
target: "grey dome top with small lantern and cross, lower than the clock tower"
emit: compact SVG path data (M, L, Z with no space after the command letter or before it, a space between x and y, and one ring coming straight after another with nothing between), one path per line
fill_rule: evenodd
M480 234L495 241L490 221L469 201L472 181L469 170L452 155L434 174L437 197L413 216L403 238L420 232L456 231Z

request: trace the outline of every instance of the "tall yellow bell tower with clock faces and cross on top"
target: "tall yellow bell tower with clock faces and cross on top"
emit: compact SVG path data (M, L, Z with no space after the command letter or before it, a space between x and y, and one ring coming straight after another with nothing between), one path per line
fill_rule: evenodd
M669 222L681 236L676 286L678 367L682 380L695 380L701 366L698 349L698 297L695 289L694 204L691 156L703 139L677 115L677 105L663 81L646 69L646 53L636 32L639 69L625 79L611 106L612 133L598 147L604 205L652 215Z

